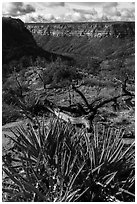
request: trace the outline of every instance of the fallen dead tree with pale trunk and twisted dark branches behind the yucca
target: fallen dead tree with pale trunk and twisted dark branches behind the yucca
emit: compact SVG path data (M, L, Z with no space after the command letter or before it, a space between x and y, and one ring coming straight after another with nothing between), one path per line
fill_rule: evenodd
M98 97L92 100L90 103L88 102L85 95L78 88L72 85L72 90L79 94L86 107L82 103L76 103L73 105L70 104L69 106L58 106L53 104L47 98L44 101L41 101L39 98L33 107L26 108L24 107L25 105L22 104L22 109L24 109L24 111L27 113L32 112L32 115L38 114L41 111L43 111L43 113L49 111L65 122L70 122L74 125L83 125L87 129L91 129L92 122L95 116L98 114L100 108L111 102L113 102L115 105L118 105L117 100L119 98L128 96L130 99L132 99L132 97L135 96L134 93L131 93L127 90L126 83L127 79L122 84L122 93L118 96L110 97L108 99Z

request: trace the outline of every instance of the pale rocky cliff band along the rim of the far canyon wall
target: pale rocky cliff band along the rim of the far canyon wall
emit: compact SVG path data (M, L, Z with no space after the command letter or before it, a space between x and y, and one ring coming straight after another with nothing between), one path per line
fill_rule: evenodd
M134 22L26 24L32 34L48 36L134 37Z

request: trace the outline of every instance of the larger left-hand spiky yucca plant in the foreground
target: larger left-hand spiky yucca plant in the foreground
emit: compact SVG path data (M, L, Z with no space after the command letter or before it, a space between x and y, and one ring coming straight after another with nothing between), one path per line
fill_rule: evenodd
M71 136L75 135L74 128L70 129L70 125L59 123L58 120L51 123L52 128L48 131L44 124L37 131L32 125L29 130L20 126L16 132L14 131L16 139L11 139L15 142L17 151L20 151L18 159L12 158L12 163L9 164L5 157L3 168L8 177L20 187L21 192L24 188L25 193L21 195L17 193L19 197L16 200L15 193L11 191L13 193L11 201L13 199L20 201L20 196L24 201L30 199L35 201L65 200L68 195L71 199L70 187L75 176L78 175L79 167L81 168L84 163L82 160L78 163L77 148L75 152L73 151L74 146L78 144L78 141L73 144L71 139ZM66 184L66 180L69 185ZM39 188L40 191L38 191ZM44 198L41 195L43 188ZM9 192L9 189L4 188L4 192Z

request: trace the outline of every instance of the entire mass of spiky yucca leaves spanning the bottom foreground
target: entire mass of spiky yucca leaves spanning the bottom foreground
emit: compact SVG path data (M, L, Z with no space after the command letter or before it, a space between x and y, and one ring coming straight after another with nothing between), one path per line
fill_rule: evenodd
M88 134L54 119L14 135L16 156L3 156L4 201L134 201L134 144L125 148L121 131Z

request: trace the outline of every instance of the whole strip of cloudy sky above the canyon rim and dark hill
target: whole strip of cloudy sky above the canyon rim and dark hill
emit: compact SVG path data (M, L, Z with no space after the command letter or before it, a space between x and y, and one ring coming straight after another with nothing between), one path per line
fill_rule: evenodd
M25 23L135 21L135 3L3 2L2 15Z

